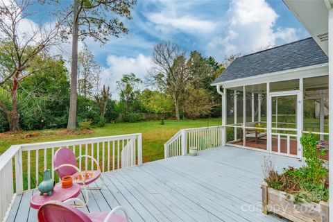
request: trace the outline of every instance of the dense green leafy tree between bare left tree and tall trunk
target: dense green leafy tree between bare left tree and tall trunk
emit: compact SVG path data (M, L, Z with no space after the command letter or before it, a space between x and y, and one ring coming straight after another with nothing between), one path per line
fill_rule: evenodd
M20 126L24 130L66 127L69 80L65 62L58 57L37 56L18 90Z

